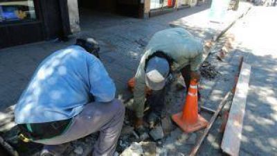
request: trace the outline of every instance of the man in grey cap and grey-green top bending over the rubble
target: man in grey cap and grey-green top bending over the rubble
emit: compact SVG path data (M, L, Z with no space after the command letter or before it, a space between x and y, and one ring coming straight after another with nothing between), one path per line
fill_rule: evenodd
M170 74L181 73L186 88L190 79L199 80L199 65L202 63L204 46L184 28L169 28L155 33L141 58L134 79L135 127L143 128L145 91L152 90L148 123L153 125L161 117L165 105L166 85ZM148 89L145 89L147 87Z

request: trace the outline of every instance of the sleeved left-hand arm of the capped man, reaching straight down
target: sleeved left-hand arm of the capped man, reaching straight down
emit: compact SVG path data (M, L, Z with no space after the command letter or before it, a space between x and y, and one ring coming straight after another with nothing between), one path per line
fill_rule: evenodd
M144 65L141 63L135 76L134 86L134 110L136 112L136 128L143 123L143 111L145 105L145 71Z

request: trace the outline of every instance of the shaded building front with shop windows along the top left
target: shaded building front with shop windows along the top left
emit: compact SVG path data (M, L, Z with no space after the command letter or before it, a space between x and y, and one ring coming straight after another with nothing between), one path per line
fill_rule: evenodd
M80 9L137 18L193 6L197 0L1 0L0 49L51 40L81 30ZM157 13L158 12L158 13Z

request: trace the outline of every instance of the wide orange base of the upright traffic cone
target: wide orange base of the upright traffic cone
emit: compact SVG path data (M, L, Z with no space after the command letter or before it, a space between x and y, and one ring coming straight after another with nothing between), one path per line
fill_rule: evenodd
M179 125L181 130L183 130L186 133L195 132L196 130L200 130L202 128L206 128L206 126L208 125L208 121L206 121L206 119L204 119L199 114L198 114L198 119L197 119L196 123L194 123L194 124L185 123L181 119L182 114L183 113L180 112L180 113L172 115L172 120L175 121L175 123L177 123L177 125Z

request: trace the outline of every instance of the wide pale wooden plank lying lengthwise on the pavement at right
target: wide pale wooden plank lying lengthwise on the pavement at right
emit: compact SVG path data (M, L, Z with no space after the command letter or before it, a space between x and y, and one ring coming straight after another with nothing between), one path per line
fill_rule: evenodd
M240 151L240 139L242 138L242 124L247 102L250 73L251 66L243 62L221 145L223 152L231 156L238 156Z

